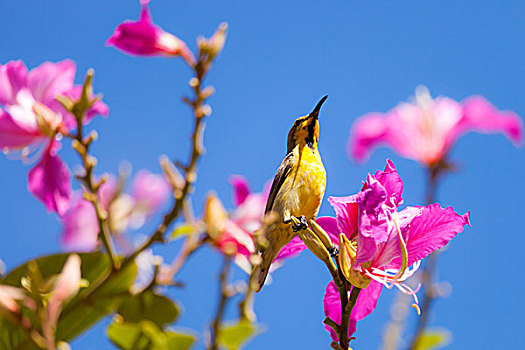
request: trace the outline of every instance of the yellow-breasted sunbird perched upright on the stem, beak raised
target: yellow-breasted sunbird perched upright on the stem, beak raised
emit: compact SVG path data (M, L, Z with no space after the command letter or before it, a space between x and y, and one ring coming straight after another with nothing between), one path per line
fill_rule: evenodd
M319 110L328 96L314 110L295 120L288 133L284 157L270 189L265 214L273 212L275 221L266 229L267 247L261 252L262 262L253 274L253 288L258 292L264 285L270 265L296 232L308 227L321 206L326 186L326 172L317 149L319 142ZM291 218L301 224L291 224Z

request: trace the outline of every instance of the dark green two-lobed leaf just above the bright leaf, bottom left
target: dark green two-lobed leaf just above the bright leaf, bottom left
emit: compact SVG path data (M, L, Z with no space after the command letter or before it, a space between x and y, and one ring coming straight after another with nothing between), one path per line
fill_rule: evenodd
M126 298L117 312L127 322L146 319L161 327L174 322L179 316L179 309L171 299L149 290Z

